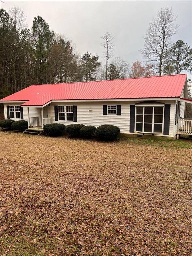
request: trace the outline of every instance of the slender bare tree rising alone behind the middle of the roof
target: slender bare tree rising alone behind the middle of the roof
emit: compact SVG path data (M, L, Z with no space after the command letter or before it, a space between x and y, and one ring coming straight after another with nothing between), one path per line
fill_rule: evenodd
M103 43L101 43L101 46L105 48L104 51L104 59L106 59L106 80L108 79L108 60L113 57L113 39L111 33L105 32L105 34L101 37L103 39Z

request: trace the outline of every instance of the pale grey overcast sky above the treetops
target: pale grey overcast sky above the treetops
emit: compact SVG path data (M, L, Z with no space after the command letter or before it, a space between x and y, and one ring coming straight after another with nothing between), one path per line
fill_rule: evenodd
M183 40L192 47L192 1L7 1L1 7L7 11L20 7L32 27L35 16L48 22L51 30L64 34L83 54L99 55L103 61L101 36L109 31L114 36L114 56L132 63L143 61L139 49L149 23L163 6L172 6L178 15L179 29L172 41Z

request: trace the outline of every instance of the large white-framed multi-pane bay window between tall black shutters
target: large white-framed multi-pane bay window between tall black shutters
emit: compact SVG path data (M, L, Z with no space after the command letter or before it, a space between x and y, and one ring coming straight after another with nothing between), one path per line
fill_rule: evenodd
M143 133L163 132L163 106L136 106L135 131Z

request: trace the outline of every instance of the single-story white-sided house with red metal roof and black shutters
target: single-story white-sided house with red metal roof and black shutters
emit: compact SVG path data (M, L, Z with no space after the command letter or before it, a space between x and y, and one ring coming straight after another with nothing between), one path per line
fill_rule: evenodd
M172 139L181 128L192 132L192 121L178 125L185 120L185 102L192 103L186 74L31 85L0 102L5 119L27 120L29 129L50 123L112 124L122 134Z

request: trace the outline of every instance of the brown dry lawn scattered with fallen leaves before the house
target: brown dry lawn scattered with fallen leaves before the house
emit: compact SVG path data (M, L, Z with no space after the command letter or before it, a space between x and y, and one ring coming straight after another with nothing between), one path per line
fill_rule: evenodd
M0 136L0 255L192 254L191 141Z

